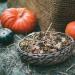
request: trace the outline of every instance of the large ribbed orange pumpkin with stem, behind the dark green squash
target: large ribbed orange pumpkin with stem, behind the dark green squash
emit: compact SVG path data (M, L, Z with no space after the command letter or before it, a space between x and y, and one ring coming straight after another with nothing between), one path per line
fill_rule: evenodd
M9 8L2 13L1 23L14 32L31 32L36 25L36 15L26 8Z

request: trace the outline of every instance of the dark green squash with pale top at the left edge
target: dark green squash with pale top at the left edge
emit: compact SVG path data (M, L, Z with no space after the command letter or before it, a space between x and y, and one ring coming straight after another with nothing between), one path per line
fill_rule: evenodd
M14 33L7 28L0 29L0 43L8 44L14 39Z

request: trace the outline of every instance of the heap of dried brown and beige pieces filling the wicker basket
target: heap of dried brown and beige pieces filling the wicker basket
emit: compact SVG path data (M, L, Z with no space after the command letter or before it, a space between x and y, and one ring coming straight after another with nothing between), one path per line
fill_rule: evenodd
M71 40L63 33L40 32L33 38L25 38L20 42L20 48L28 53L48 54L57 52L68 46Z

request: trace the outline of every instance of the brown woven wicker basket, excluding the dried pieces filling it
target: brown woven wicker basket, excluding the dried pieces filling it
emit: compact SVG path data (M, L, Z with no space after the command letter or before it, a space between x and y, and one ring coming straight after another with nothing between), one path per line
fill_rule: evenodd
M67 39L69 39L71 43L70 43L70 45L61 48L57 52L53 52L53 53L49 53L49 54L42 54L40 56L39 54L27 53L26 51L23 51L20 48L20 43L23 40L31 39L31 38L33 38L33 36L38 35L38 34L39 34L39 32L33 32L33 33L27 35L24 39L22 39L19 42L18 51L21 56L21 59L24 62L28 62L28 63L34 64L34 65L53 65L53 64L57 64L57 63L61 63L61 62L65 61L67 58L69 58L69 56L72 55L72 51L74 48L74 40L71 37L65 35L64 33L60 33L60 32L56 32L54 34L67 37Z

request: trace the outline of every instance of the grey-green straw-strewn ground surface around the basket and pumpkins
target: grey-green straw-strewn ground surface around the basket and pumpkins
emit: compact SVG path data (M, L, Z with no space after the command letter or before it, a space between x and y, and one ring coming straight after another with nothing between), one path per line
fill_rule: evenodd
M0 3L0 14L7 8ZM25 35L15 34L14 43L0 47L0 75L75 75L75 56L64 63L40 67L23 63L17 53L17 42Z

